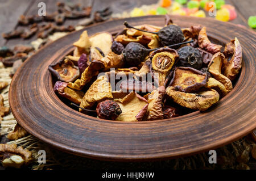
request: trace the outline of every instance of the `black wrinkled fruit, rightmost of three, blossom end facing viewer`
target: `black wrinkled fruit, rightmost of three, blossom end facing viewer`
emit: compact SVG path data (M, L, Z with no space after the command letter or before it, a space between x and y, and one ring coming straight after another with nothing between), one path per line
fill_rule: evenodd
M198 49L185 46L180 48L177 53L179 54L177 66L189 66L197 70L201 69L203 58Z

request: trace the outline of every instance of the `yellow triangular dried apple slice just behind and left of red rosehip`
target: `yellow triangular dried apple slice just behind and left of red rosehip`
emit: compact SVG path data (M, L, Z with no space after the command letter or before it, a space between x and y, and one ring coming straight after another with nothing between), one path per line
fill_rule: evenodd
M86 91L80 107L91 108L95 103L101 102L102 100L113 99L111 91L110 82L108 82L105 75L98 77Z

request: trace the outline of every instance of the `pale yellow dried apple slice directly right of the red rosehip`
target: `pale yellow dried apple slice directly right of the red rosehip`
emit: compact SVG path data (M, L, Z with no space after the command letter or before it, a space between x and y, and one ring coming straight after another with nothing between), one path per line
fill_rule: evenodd
M142 120L143 113L146 113L147 100L136 92L130 92L125 98L114 99L114 101L119 104L122 110L121 115L116 119L117 121L138 121L137 118Z

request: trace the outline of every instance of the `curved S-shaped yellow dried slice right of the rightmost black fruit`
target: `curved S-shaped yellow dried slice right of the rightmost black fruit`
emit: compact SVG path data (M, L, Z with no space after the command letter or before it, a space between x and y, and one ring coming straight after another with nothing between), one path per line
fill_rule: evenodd
M218 52L213 55L212 60L210 61L209 65L209 72L213 75L213 77L221 82L225 88L226 91L230 92L233 89L232 82L228 77L221 74L221 67L225 60L224 54ZM213 63L212 63L213 62Z

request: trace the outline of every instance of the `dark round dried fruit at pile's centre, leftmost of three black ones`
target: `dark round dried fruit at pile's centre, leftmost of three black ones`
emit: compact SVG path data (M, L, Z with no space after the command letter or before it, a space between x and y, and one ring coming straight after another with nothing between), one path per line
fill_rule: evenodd
M141 64L147 54L147 49L143 45L135 42L127 44L123 50L123 56L125 57L127 66L137 66Z

